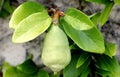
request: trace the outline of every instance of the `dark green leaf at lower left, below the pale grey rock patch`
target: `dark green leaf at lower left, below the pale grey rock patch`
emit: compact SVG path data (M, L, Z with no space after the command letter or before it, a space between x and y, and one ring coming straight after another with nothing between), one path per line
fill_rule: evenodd
M26 74L33 74L33 73L37 72L37 70L38 70L37 66L31 59L28 59L25 62L23 62L22 64L18 65L17 69Z

